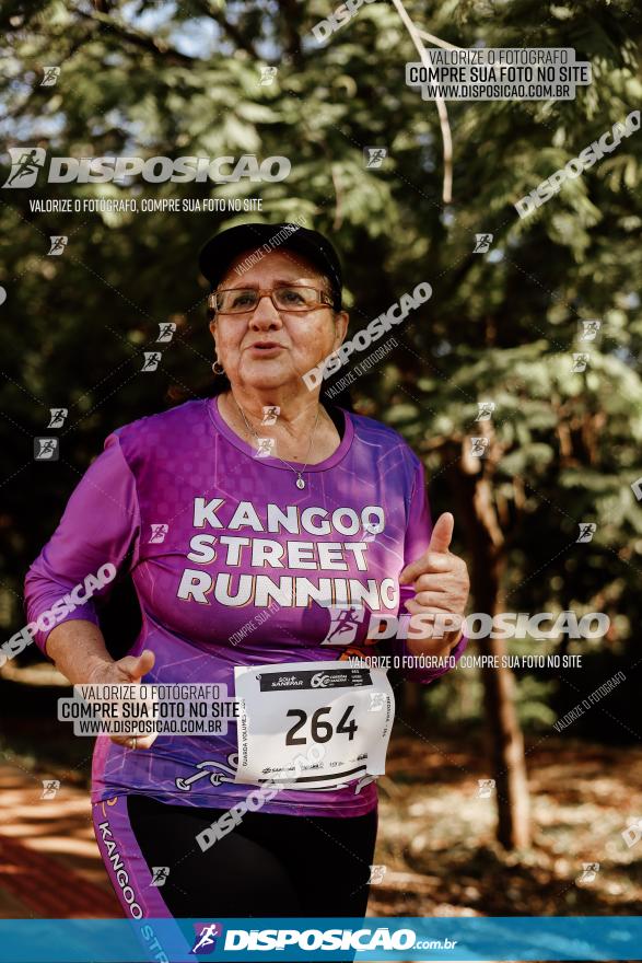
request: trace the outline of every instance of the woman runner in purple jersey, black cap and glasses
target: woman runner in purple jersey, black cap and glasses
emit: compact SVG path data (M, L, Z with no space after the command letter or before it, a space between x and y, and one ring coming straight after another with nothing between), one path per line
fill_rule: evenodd
M226 732L97 738L95 832L127 915L359 917L393 694L351 660L457 659L456 627L385 627L399 611L456 626L466 566L451 514L431 532L400 436L319 401L348 327L327 239L244 224L200 266L225 387L107 438L28 572L28 618L112 562L133 580L141 631L112 659L87 600L37 635L67 678L207 683L244 700Z

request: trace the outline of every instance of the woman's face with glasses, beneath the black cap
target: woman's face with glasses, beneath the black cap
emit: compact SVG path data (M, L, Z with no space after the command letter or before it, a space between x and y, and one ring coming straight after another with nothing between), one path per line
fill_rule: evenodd
M245 251L232 262L219 290L307 285L329 293L317 268L291 251L272 251L237 275L234 266L250 253ZM253 312L220 314L210 322L218 360L232 387L267 391L305 386L302 375L339 347L347 327L345 311L335 315L329 305L297 313L278 311L267 297Z

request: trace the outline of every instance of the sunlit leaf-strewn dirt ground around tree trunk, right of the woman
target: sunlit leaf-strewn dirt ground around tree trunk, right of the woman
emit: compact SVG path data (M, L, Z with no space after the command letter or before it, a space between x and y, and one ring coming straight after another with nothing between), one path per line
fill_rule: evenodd
M527 752L533 845L494 842L483 755L455 742L396 739L381 782L371 890L381 916L593 916L642 913L642 750L552 739ZM585 871L585 863L599 863Z

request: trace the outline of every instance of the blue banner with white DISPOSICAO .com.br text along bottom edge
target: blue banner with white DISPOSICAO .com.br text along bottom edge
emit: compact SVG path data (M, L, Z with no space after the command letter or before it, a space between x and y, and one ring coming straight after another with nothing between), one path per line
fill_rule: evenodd
M0 963L642 960L641 916L3 919Z

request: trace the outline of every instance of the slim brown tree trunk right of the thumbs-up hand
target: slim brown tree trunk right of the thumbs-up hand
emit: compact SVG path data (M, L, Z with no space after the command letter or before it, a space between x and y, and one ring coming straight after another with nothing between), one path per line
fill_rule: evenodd
M492 617L498 612L504 566L503 535L491 486L479 473L476 461L472 466L465 455L459 463L457 501L472 559L470 588L476 611ZM522 849L530 844L530 821L524 739L514 700L515 678L510 669L501 668L506 652L504 639L482 638L478 646L481 655L497 657L500 664L499 669L482 670L490 775L495 781L498 805L497 835L506 849Z

